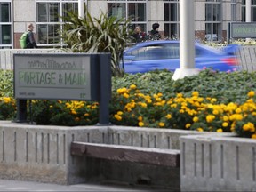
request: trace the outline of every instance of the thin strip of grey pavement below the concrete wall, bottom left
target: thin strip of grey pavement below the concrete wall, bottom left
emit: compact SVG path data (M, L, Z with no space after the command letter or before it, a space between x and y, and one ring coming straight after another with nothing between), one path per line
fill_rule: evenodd
M150 192L150 191L170 191L160 188L139 187L121 184L76 184L76 185L58 185L49 183L39 183L21 180L0 180L0 191L28 191L28 192L50 192L50 191L105 191L105 192Z

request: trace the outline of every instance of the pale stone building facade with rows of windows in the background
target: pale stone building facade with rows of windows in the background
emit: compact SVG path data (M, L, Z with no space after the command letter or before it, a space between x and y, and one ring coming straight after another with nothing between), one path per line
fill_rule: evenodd
M245 21L246 0L194 0L195 38L222 41L228 23ZM251 0L252 21L256 20L256 0ZM108 12L117 18L132 17L132 27L145 32L160 24L163 38L179 38L179 0L84 0L88 12L97 17ZM19 38L28 23L34 23L39 47L61 46L61 26L66 11L78 12L78 0L0 0L0 49L20 48Z

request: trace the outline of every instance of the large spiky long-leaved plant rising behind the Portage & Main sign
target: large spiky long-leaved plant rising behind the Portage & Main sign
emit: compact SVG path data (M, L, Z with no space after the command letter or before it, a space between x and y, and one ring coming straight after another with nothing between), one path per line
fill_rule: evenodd
M120 65L126 44L132 41L131 20L108 17L101 12L93 18L85 10L84 18L75 12L67 12L62 38L71 52L110 52L113 76L124 76L124 66ZM123 63L123 60L122 60Z

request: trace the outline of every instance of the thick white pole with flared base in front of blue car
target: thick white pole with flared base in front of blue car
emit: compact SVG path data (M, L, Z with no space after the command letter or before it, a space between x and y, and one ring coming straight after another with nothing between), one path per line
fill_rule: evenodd
M180 0L180 68L175 70L173 80L199 73L195 68L194 8L194 0Z

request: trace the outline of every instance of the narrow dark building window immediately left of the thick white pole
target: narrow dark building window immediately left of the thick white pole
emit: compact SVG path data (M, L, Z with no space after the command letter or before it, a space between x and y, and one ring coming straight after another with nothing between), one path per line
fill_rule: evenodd
M164 0L164 36L178 39L180 34L180 4L179 0L172 2Z

